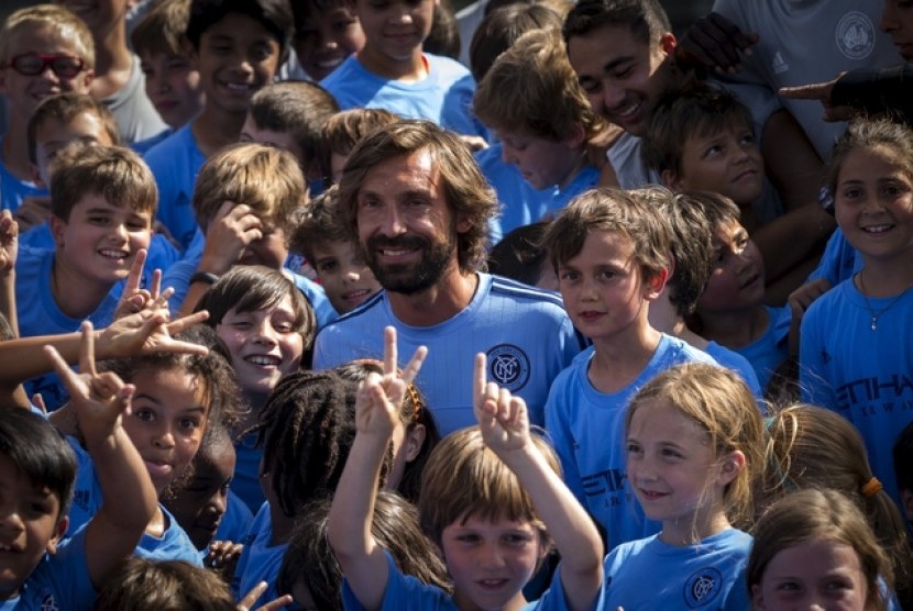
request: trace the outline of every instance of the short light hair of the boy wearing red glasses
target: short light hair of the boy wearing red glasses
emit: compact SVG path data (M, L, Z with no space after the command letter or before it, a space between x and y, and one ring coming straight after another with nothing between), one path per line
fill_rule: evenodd
M41 30L52 30L62 38L75 43L86 69L95 68L95 40L89 26L72 10L50 2L20 9L7 18L0 27L0 64L6 64L13 54L19 53L19 49L10 48L10 41L19 32L36 34Z

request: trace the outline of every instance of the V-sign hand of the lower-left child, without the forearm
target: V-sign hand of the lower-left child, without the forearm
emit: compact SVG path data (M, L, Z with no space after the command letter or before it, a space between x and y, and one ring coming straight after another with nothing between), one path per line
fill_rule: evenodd
M99 374L96 370L92 323L85 321L79 331L79 374L69 368L54 346L45 346L44 352L69 391L86 445L92 447L120 427L121 415L129 412L135 388L112 371Z

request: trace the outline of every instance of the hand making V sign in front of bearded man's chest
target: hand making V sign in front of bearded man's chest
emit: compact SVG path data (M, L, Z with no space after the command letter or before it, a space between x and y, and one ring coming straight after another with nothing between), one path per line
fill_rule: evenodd
M406 388L415 380L428 348L419 346L413 358L397 374L396 329L384 329L384 375L370 374L359 385L355 399L355 425L360 433L389 436L399 421L399 406L406 396Z

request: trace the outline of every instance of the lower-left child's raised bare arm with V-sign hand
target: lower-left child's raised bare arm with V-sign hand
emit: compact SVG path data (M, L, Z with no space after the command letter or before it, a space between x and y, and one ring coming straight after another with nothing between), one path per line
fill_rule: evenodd
M89 576L99 588L136 547L158 507L148 471L122 425L135 389L111 371L96 371L89 322L82 323L80 374L53 346L46 354L70 393L101 486L103 504L86 526L85 541Z

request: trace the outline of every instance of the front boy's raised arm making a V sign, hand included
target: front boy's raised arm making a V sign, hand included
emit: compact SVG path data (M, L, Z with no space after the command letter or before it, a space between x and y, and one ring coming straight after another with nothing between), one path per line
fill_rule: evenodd
M349 585L365 609L381 609L389 574L383 549L371 534L377 480L406 387L427 349L416 351L403 376L396 375L396 330L384 330L384 376L371 374L355 400L358 433L337 487L327 536Z

